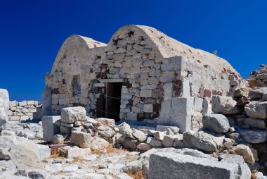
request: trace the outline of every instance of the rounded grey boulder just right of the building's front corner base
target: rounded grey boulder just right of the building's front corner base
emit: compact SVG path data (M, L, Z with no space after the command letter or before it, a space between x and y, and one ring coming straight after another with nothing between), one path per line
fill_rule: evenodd
M203 128L213 130L214 132L227 132L230 128L228 118L217 113L204 114L202 123Z

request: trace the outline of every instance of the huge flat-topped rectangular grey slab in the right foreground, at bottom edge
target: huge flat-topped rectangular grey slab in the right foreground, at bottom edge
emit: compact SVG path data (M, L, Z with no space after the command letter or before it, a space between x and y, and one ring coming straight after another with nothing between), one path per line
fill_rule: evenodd
M148 178L236 178L238 164L213 161L176 153L158 152L150 155Z

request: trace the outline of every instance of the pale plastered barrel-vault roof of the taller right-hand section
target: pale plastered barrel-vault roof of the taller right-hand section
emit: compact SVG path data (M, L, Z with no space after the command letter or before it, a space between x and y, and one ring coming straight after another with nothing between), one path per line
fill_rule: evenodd
M138 33L143 32L143 36L148 37L158 49L159 54L163 58L169 58L173 56L184 56L186 58L190 58L191 60L198 61L197 63L202 63L203 65L209 65L211 68L218 70L219 73L222 71L228 71L228 73L235 73L235 75L239 75L237 71L233 68L233 66L228 63L223 58L219 56L215 56L207 51L203 51L201 49L195 49L193 47L188 46L187 44L183 44L182 42L178 42L176 39L168 37L163 32L159 30L148 27L145 25L126 25L124 27L119 28L117 32L110 39L109 44L112 42L114 37L118 37L120 34L124 34L129 30L135 30Z

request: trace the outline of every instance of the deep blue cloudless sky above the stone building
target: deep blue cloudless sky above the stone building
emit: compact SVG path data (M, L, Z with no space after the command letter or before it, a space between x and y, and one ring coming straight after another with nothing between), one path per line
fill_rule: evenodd
M44 75L69 35L107 43L123 25L149 25L205 51L244 77L267 63L267 1L0 1L0 88L41 100Z

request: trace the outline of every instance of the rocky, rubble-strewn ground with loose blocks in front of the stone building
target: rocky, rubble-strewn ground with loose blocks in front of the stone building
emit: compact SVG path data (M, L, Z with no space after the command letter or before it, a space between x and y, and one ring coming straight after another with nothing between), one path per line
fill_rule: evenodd
M266 94L213 95L202 128L185 132L89 118L81 106L41 120L2 115L0 178L267 178Z

